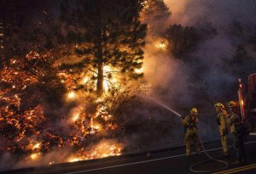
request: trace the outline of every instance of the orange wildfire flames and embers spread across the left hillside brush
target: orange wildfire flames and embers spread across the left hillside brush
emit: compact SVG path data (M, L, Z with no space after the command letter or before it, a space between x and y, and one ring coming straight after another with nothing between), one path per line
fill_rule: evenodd
M148 8L148 3L144 6ZM166 45L160 43L156 47L165 48ZM121 154L124 145L111 136L106 138L106 134L117 130L119 125L102 102L106 93L119 88L120 81L125 81L124 76L119 76L121 70L111 65L103 66L103 96L93 98L96 109L87 112L81 101L86 98L84 93L96 91L95 67L74 75L71 69L59 69L60 65L52 53L31 51L24 58L9 59L9 65L0 70L0 153L19 154L26 161L37 161L54 150L69 149L65 160L49 160L49 165ZM134 71L142 75L143 67ZM44 113L47 110L44 102L38 102L42 97L38 91L56 84L66 89L62 95L65 104L77 104L60 115L60 124L53 123ZM24 104L26 102L29 104Z

